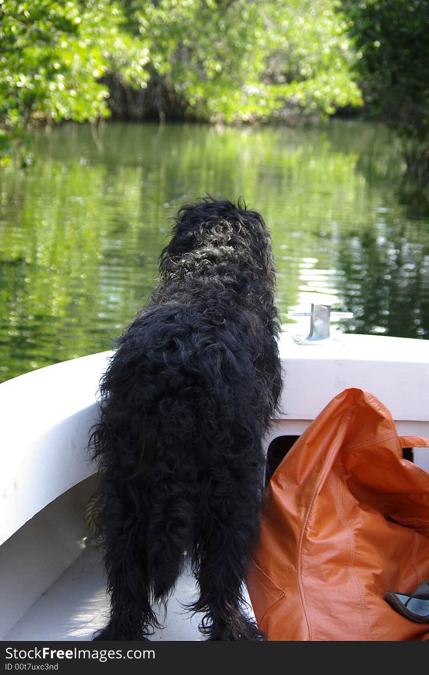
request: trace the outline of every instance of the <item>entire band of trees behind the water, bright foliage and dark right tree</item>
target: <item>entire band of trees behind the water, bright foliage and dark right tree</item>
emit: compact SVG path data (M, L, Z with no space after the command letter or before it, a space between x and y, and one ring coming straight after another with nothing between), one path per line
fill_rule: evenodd
M429 173L429 0L0 0L0 64L3 164L38 121L323 117L362 88Z

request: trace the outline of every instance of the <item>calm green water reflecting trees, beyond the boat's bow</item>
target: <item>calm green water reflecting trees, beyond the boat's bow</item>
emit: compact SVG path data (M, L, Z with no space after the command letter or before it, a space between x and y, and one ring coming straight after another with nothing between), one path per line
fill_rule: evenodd
M169 218L205 192L266 219L282 321L318 300L354 313L348 331L429 337L429 221L399 203L382 127L70 124L41 130L35 154L0 176L0 380L109 349Z

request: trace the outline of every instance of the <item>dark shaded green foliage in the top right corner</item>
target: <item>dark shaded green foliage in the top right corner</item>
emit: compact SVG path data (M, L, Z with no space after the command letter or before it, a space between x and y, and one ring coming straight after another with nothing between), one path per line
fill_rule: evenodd
M344 3L365 101L407 135L429 132L429 2Z

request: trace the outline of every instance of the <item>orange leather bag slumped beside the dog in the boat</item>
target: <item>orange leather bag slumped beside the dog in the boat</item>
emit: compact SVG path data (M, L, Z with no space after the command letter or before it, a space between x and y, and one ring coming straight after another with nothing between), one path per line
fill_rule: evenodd
M361 389L334 398L266 492L249 595L269 640L422 640L384 600L429 580L429 474L388 410ZM428 450L429 452L429 450Z

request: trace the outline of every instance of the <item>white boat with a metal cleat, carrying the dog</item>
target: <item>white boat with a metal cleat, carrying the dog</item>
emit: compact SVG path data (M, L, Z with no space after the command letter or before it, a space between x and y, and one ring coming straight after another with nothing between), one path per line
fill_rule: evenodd
M313 306L307 339L294 335L296 325L280 336L282 412L266 449L280 436L300 435L348 387L379 398L401 435L429 437L429 340L347 333L328 338L328 319L329 308ZM91 543L84 512L96 489L86 445L109 356L83 356L0 385L2 641L84 641L105 624L101 551ZM413 461L429 471L427 449L415 448ZM202 639L198 616L180 605L194 591L185 572L168 605L166 627L153 640Z

